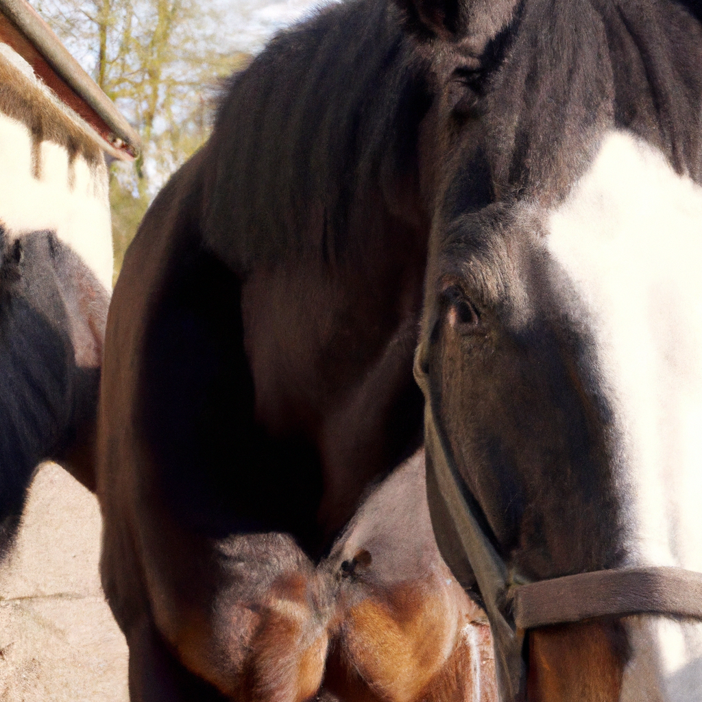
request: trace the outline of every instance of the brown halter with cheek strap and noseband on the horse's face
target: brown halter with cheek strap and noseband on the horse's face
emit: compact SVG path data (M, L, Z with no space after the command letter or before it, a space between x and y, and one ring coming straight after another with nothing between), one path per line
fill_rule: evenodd
M420 349L414 374L425 395L427 491L432 525L440 541L440 529L436 527L442 515L437 517L435 512L443 512L460 542L461 555L475 576L491 625L503 702L525 699L527 669L522 646L528 629L630 614L702 620L702 573L682 568L609 569L534 583L517 581L482 531L459 487L461 477L442 427L435 421L429 380L420 369L419 356ZM455 564L448 564L454 569Z

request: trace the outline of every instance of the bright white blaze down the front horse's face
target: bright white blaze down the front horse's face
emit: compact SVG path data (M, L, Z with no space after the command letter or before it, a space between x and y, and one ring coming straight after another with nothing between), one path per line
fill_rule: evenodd
M702 571L702 187L647 143L611 133L548 232L623 428L630 563ZM632 665L649 636L664 675L702 665L701 625L635 630ZM668 698L692 691L670 687Z

